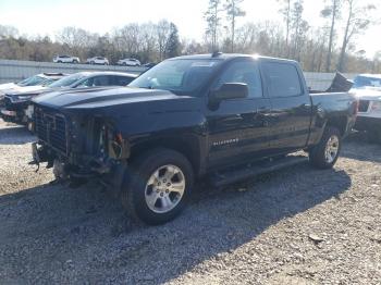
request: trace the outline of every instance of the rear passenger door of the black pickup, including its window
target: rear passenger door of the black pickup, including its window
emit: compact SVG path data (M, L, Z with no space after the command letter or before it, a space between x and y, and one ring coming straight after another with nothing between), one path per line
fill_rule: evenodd
M270 148L273 154L306 147L311 125L311 99L296 63L263 61L271 100Z

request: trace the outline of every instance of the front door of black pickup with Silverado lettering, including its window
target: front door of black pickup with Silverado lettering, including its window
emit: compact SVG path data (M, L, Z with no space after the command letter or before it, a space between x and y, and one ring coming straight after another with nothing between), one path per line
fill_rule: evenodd
M249 97L222 101L217 110L208 110L209 168L241 164L269 150L267 117L271 113L269 98L263 96L258 61L239 59L231 62L212 86L244 83Z

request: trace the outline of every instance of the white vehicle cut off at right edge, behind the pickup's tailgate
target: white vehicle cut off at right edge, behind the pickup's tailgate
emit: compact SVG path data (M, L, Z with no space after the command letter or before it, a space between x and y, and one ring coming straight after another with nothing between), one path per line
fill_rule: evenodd
M352 92L359 100L355 129L366 132L370 141L381 142L381 75L356 76Z

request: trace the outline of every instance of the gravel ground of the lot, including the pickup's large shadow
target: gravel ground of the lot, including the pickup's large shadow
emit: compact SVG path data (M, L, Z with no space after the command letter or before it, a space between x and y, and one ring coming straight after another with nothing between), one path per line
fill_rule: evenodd
M158 227L128 223L98 185L50 185L30 141L0 122L1 284L381 284L381 146L361 137L334 170L197 186Z

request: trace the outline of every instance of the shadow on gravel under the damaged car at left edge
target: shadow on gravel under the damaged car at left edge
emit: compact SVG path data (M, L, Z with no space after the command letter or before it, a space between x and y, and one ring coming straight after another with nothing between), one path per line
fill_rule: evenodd
M23 126L0 128L0 145L24 145L35 141L36 138Z

